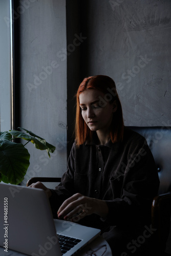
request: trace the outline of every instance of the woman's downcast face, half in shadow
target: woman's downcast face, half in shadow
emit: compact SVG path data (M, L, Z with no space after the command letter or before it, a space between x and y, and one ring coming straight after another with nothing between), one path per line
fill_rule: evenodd
M116 101L110 104L102 92L94 89L80 93L79 101L82 117L90 130L108 132L117 110Z

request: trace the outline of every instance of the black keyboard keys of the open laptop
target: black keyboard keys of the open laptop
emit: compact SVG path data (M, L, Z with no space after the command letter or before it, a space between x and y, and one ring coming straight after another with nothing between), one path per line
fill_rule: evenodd
M69 251L71 248L73 248L76 244L81 242L80 239L63 236L62 234L57 234L57 237L62 255Z

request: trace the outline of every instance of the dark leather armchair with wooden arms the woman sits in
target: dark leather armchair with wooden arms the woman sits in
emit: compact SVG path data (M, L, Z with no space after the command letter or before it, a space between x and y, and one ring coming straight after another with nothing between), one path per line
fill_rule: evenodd
M130 126L129 128L145 137L157 165L160 187L152 203L152 228L157 232L156 255L168 255L164 251L169 236L171 214L171 127ZM27 186L36 181L60 182L60 178L31 178Z

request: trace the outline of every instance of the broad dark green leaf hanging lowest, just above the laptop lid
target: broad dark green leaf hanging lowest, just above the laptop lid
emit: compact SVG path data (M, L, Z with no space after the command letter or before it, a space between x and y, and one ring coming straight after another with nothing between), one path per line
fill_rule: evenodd
M19 184L29 167L30 154L21 143L0 140L0 181Z

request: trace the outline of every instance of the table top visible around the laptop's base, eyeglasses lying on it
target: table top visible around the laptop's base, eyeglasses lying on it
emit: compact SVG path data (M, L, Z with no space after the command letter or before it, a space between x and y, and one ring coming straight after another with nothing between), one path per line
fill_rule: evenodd
M93 254L95 252L95 254ZM28 256L27 254L16 252L8 249L8 252L4 251L3 247L0 247L1 256ZM101 237L98 236L90 244L83 247L75 256L112 256L111 248L109 244Z

